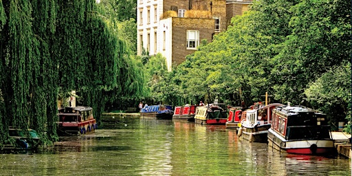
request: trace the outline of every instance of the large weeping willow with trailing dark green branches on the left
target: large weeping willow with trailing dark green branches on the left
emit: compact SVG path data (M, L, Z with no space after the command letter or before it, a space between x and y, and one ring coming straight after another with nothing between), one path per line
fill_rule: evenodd
M9 126L57 140L59 90L78 91L99 121L107 92L124 94L135 76L94 0L0 0L0 40L0 144Z

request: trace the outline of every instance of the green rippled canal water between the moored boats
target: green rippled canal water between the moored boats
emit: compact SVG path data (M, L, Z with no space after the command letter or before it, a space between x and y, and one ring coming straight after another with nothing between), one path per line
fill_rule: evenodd
M345 157L284 155L225 126L145 118L0 161L0 175L351 175Z

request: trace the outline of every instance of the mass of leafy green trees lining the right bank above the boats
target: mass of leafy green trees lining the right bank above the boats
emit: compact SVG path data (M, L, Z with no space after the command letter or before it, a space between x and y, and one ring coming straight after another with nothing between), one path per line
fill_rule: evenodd
M178 97L173 99L250 105L267 91L272 102L321 109L332 124L348 116L351 73L341 63L351 54L349 2L253 3L226 32L187 56L173 78L165 77Z

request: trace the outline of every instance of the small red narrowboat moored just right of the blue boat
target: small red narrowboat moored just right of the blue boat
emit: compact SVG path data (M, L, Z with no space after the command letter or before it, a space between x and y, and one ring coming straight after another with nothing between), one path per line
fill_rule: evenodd
M186 104L184 106L175 107L173 120L195 121L195 108L197 105Z

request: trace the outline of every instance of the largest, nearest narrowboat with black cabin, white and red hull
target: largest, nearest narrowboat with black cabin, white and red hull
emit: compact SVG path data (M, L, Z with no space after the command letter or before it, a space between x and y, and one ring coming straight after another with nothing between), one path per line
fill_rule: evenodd
M267 134L269 146L285 153L324 155L333 153L334 141L327 116L302 106L276 107Z

